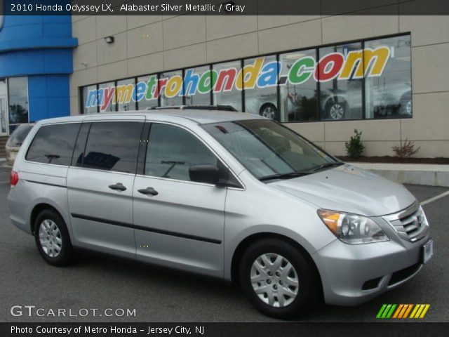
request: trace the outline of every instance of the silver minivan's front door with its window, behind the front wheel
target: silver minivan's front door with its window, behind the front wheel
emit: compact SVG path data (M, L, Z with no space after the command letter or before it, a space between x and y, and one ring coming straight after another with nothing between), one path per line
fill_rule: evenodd
M227 189L189 178L189 166L217 160L185 128L152 124L133 189L138 260L222 277Z

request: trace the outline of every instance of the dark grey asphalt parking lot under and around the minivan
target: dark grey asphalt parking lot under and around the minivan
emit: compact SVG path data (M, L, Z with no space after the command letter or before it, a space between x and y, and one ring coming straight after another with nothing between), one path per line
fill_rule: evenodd
M448 190L408 185L419 201ZM170 270L82 254L70 267L52 267L39 256L34 239L11 225L6 197L9 171L0 170L1 322L273 322L228 284ZM432 225L434 258L415 279L356 307L321 305L305 322L374 322L383 303L429 303L424 322L448 322L449 195L424 206ZM13 305L36 308L135 309L135 317L14 317ZM24 312L25 313L25 312ZM110 313L110 312L109 312ZM119 312L120 313L120 312ZM411 321L411 320L410 320Z

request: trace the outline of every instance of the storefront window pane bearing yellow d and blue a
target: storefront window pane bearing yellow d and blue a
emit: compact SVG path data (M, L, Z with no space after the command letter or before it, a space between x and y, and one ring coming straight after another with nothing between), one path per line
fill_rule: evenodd
M243 61L245 111L277 120L277 81L279 65L276 55Z

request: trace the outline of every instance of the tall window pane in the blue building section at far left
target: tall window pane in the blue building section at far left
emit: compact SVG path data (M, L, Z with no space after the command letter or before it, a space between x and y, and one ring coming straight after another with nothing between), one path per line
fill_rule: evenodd
M9 131L17 124L28 123L28 78L8 79Z

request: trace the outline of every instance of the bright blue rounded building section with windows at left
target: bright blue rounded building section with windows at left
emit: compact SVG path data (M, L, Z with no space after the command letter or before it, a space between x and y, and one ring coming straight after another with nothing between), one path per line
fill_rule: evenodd
M76 44L69 15L0 16L0 137L69 114Z

